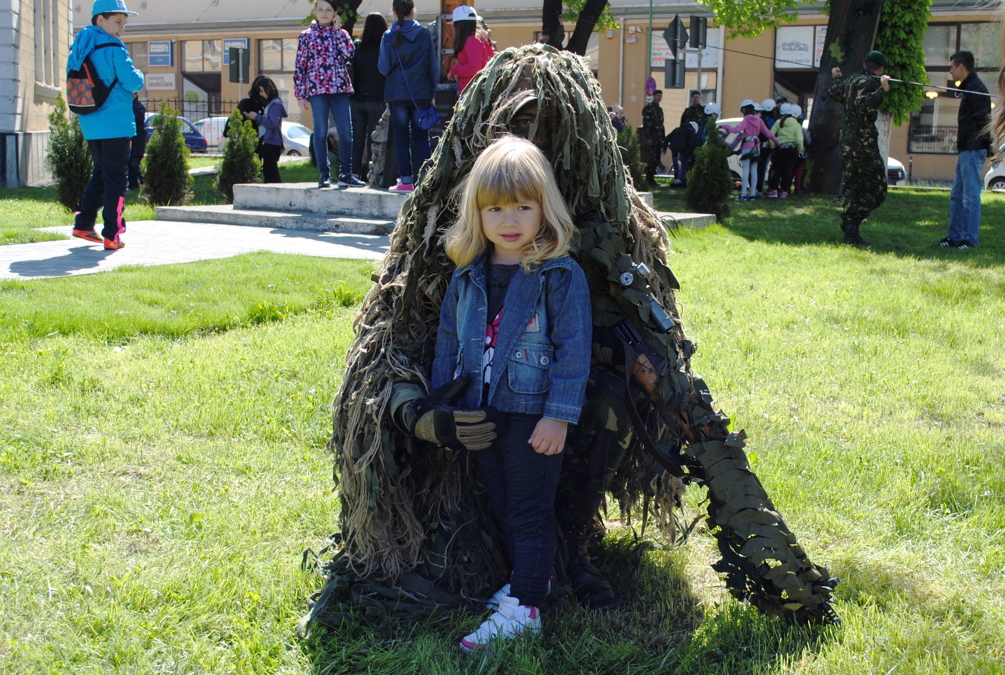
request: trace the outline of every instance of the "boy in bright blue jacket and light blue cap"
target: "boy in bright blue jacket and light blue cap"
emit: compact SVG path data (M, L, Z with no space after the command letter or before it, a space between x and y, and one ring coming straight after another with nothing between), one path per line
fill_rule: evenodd
M77 70L90 55L97 76L107 85L118 79L109 97L93 113L80 116L80 131L87 141L94 170L83 190L80 210L75 214L73 236L116 250L125 246L121 235L126 231L123 211L129 184L131 140L137 134L133 116L133 91L143 88L143 73L133 66L126 44L119 38L126 21L136 16L126 8L126 0L94 0L90 24L76 35L66 61L66 72ZM114 43L94 51L99 44ZM140 130L141 133L145 133ZM104 207L103 236L94 232L97 210Z

